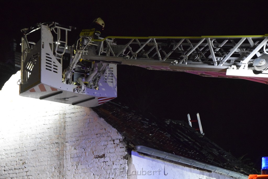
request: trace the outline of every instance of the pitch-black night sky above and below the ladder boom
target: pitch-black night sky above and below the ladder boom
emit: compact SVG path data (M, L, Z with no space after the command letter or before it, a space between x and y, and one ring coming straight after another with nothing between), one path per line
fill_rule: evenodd
M69 45L97 17L105 21L104 36L268 33L266 1L9 1L0 14L1 60L11 39L19 44L22 28L51 21L77 27ZM117 77L116 101L159 118L187 121L188 113L192 119L199 113L208 138L260 170L261 157L268 156L267 85L125 65L118 65Z

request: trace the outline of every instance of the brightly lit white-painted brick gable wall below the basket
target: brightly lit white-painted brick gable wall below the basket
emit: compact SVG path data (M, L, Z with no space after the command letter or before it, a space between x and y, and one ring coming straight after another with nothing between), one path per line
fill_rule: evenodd
M19 96L19 78L0 91L0 178L126 178L121 134L90 108Z

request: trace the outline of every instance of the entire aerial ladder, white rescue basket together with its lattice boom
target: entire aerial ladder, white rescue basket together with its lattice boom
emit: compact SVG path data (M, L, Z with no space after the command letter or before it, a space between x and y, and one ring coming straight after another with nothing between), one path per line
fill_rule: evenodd
M72 28L44 23L22 30L21 96L98 106L117 97L117 64L268 82L266 35L92 39L80 34L70 46ZM38 40L31 39L35 33Z

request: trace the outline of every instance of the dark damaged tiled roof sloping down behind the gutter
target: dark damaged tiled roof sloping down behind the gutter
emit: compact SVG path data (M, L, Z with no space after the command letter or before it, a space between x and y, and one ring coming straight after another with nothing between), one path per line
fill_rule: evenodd
M134 146L143 145L247 175L256 173L184 121L152 115L145 118L110 101L92 109Z

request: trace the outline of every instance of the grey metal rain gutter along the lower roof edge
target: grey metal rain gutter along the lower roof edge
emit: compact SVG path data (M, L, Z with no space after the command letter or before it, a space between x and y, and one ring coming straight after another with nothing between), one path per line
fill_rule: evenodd
M184 164L187 164L187 165L199 167L201 169L206 169L206 170L218 172L218 173L221 173L221 174L229 175L231 177L236 177L236 178L241 178L241 179L248 179L248 176L245 176L243 174L240 174L240 173L237 173L237 172L234 172L234 171L226 170L226 169L223 169L223 168L220 168L220 167L215 167L213 165L198 162L196 160L188 159L188 158L185 158L185 157L182 157L182 156L170 154L170 153L163 152L163 151L156 150L156 149L152 149L152 148L149 148L149 147L134 146L134 149L137 152L142 152L144 154L149 154L149 155L161 157L161 158L164 158L164 159L169 159L169 160L172 160L172 161L175 161L175 162L180 162L180 163L184 163Z

